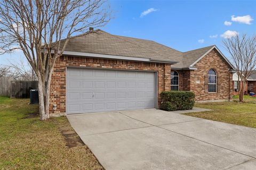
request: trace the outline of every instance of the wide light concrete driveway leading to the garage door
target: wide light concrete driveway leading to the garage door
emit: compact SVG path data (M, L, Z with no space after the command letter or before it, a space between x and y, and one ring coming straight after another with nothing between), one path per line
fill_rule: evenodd
M156 109L68 115L107 170L256 169L256 129Z

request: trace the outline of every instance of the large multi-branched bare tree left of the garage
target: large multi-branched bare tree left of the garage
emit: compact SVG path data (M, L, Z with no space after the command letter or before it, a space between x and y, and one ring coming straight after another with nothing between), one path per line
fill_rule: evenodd
M21 49L35 71L41 120L49 118L53 66L69 39L109 20L104 0L0 0L0 51Z

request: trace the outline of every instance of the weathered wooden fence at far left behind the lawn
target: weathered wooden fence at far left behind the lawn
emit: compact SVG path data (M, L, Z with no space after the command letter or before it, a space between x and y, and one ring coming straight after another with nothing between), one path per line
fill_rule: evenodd
M30 90L37 89L37 87L37 81L0 78L0 96L9 96L11 98L29 98Z

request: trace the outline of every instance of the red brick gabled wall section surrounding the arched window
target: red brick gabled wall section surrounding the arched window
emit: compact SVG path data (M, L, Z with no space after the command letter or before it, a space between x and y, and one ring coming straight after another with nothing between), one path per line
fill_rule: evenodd
M180 75L180 90L194 91L197 101L203 100L228 100L233 92L232 78L229 64L213 49L202 58L195 67L197 70L182 70ZM205 76L210 69L217 72L217 92L207 92Z

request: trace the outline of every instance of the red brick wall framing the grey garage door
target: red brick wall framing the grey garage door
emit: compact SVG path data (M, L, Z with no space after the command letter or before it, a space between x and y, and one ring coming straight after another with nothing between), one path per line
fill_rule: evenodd
M171 65L158 63L143 63L121 60L105 60L90 57L62 56L54 66L51 82L50 113L66 112L66 67L91 67L99 69L121 69L158 72L158 105L161 100L159 94L171 89ZM53 111L53 104L57 104L57 110Z

